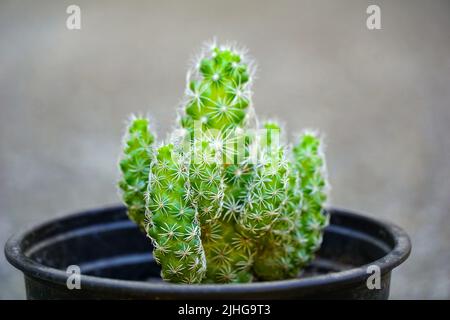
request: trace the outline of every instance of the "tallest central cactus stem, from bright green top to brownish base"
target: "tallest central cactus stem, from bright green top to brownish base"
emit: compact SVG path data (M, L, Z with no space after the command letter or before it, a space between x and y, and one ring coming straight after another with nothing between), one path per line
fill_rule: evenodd
M235 172L222 163L228 157L235 164L234 149L241 137L233 129L246 123L252 69L248 59L233 48L214 44L206 48L196 67L188 80L181 125L192 134L193 143L200 145L190 170L195 193L210 194L210 199L194 201L207 262L204 282L248 282L253 278L252 243L239 232L236 220L245 177L230 177ZM203 172L204 177L214 181L209 185L199 181L195 176L201 174L194 172Z

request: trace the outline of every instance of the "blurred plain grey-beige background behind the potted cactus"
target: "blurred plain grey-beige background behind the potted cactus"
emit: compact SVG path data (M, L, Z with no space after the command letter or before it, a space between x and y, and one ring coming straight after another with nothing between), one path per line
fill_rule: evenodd
M66 8L81 7L81 30ZM381 30L366 8L381 7ZM236 40L254 104L326 135L330 204L411 235L392 298L450 298L450 1L0 1L0 243L119 202L124 121L174 125L189 58ZM0 255L0 298L24 298Z

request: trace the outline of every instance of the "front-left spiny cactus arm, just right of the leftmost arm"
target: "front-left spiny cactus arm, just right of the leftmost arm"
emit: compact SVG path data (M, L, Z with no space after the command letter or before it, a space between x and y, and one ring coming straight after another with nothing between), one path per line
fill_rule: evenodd
M158 149L147 193L147 234L164 280L199 283L206 271L197 214L190 205L189 158L172 144Z

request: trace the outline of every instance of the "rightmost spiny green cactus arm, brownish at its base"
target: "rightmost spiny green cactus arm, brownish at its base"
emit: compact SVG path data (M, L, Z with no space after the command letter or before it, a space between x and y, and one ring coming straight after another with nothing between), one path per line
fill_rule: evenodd
M286 207L255 259L254 271L259 279L297 276L320 247L328 224L323 210L328 182L321 143L317 134L306 131L293 149Z

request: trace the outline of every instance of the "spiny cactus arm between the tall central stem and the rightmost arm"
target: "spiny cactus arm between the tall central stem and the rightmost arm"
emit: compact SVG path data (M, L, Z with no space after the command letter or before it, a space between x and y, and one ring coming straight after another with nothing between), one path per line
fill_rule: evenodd
M269 231L283 213L289 185L288 162L280 143L280 126L264 124L264 135L258 142L260 155L252 180L247 187L240 226L254 238Z

